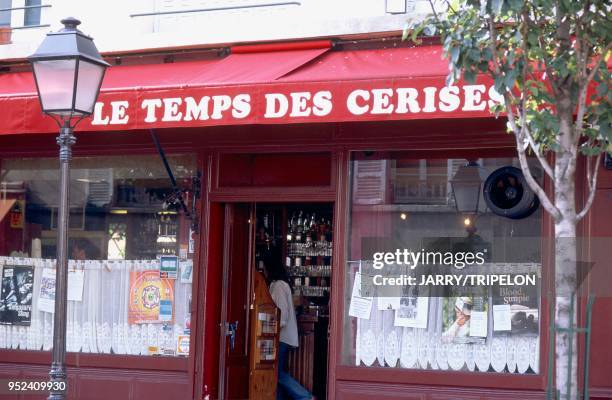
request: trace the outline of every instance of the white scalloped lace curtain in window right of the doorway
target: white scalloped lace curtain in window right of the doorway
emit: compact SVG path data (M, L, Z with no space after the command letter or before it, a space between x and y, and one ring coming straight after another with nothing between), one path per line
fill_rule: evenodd
M529 264L534 270L537 264ZM497 265L498 267L500 265ZM505 267L505 265L501 265ZM516 268L516 265L512 265ZM349 268L349 271L351 269ZM353 269L352 279L356 270ZM488 318L488 335L480 343L449 343L442 338L443 298L431 297L427 328L394 325L394 310L379 310L372 298L369 319L356 319L355 365L389 368L463 370L480 372L539 373L540 338L493 333ZM540 328L541 329L541 328Z

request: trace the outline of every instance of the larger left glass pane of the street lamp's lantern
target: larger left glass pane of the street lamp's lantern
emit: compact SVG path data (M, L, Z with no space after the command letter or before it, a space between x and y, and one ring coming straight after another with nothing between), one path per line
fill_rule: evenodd
M68 115L72 111L76 59L32 63L43 111Z

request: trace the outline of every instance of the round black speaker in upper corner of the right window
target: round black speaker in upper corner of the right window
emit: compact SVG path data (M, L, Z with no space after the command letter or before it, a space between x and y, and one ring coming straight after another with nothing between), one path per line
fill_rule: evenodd
M527 185L523 172L516 167L493 171L485 181L483 192L489 209L506 218L527 218L540 206L538 196Z

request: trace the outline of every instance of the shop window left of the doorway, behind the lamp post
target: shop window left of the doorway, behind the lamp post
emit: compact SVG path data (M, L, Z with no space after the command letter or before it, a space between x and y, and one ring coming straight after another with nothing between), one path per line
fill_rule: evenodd
M187 190L195 159L168 157ZM57 166L52 158L2 162L0 348L52 346ZM189 355L194 243L170 193L156 155L73 160L68 351ZM184 198L190 206L189 192Z

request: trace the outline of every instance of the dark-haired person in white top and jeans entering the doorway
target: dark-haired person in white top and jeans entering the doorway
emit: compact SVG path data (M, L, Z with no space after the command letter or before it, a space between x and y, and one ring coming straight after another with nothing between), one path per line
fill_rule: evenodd
M270 282L270 295L281 312L276 398L284 399L287 395L294 400L314 399L308 390L287 373L287 355L299 345L293 295L287 271L280 263L280 257L268 257L264 265L264 274Z

